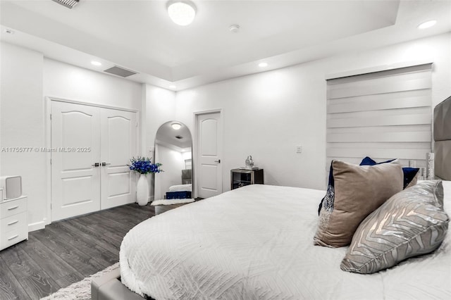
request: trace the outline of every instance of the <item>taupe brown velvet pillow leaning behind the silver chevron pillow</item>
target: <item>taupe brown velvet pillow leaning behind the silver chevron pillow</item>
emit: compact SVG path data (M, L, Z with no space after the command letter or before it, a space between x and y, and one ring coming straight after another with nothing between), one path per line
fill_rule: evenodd
M330 174L314 244L346 246L366 215L402 190L402 167L395 163L353 165L332 161Z

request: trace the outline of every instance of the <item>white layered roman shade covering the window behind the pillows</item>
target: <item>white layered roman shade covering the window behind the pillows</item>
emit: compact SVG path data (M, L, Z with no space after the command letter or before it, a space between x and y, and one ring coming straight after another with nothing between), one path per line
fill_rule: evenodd
M431 63L327 80L327 165L399 158L426 165L431 152Z

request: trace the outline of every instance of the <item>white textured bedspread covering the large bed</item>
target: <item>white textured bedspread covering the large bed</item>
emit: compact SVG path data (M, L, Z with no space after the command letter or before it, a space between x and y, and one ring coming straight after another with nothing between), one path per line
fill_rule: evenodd
M451 235L433 254L371 275L340 270L347 247L313 245L325 192L249 185L134 227L121 280L154 299L451 299ZM451 215L451 182L445 182Z

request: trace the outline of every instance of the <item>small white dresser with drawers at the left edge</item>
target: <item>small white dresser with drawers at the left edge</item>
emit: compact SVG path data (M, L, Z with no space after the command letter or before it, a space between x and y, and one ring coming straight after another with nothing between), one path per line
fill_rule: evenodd
M28 239L27 196L0 202L0 250Z

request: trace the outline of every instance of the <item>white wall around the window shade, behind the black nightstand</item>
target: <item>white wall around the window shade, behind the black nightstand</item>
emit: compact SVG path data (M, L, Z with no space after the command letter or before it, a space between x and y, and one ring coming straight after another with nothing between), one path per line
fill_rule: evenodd
M192 130L193 112L222 108L224 191L248 155L268 185L324 189L326 75L430 59L435 106L451 94L450 40L447 33L187 89L176 94L176 118Z

